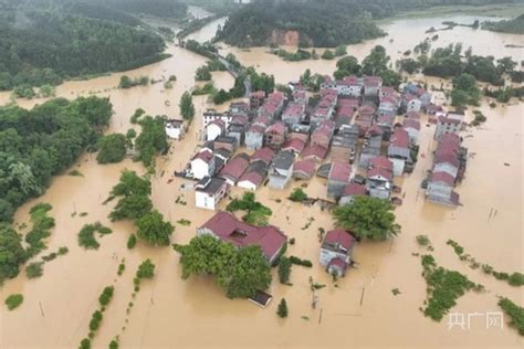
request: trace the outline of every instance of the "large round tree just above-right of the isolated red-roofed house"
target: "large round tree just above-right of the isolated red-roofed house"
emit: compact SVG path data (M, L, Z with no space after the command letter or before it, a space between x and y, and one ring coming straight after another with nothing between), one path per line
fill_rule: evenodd
M333 216L336 226L350 231L356 237L380 241L400 231L391 211L392 205L386 200L357 197L353 203L337 207Z

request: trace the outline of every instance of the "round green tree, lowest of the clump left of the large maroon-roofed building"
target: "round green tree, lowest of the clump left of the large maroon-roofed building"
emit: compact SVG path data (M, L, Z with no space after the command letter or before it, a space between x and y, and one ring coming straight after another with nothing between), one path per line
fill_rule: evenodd
M136 221L137 236L155 246L169 245L169 237L175 228L164 221L164 216L156 210L146 213Z

